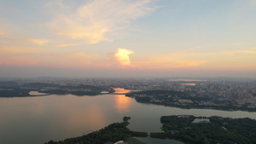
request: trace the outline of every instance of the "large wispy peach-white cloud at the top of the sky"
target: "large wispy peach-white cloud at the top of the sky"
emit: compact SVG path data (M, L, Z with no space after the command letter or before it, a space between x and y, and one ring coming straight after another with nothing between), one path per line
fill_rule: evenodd
M147 7L148 3L149 0L94 0L73 9L58 1L55 7L62 9L55 11L48 26L61 36L84 43L111 41L106 33L123 29L131 20L154 11L155 8Z

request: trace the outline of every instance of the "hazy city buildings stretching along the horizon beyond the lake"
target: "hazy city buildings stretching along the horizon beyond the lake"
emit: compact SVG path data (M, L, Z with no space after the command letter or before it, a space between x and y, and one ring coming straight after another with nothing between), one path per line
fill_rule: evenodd
M17 81L17 80L16 80ZM256 80L254 79L177 79L177 78L33 78L21 83L45 83L67 86L94 85L125 88L135 91L173 90L189 94L190 98L169 95L173 101L148 95L152 102L174 105L232 106L256 108ZM54 88L51 88L54 89ZM72 89L74 90L74 89ZM75 89L84 91L84 89ZM147 95L142 95L146 96Z

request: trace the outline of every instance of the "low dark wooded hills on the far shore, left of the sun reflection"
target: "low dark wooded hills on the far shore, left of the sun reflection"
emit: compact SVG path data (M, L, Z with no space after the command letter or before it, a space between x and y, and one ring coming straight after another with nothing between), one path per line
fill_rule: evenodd
M100 95L102 91L113 93L114 89L106 86L93 85L59 85L45 83L18 84L16 82L0 82L0 97L22 97L30 91L38 91L48 95Z

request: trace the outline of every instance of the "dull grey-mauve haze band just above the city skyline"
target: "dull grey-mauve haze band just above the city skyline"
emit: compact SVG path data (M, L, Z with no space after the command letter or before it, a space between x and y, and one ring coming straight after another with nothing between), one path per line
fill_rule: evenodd
M0 66L1 67L1 66ZM134 70L134 69L67 69L53 67L15 67L0 69L0 78L256 78L254 72Z

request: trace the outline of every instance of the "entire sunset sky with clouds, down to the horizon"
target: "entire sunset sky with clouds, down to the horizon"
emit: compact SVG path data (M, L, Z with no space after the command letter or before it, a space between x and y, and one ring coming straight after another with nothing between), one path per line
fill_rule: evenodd
M0 78L256 78L255 0L0 0Z

